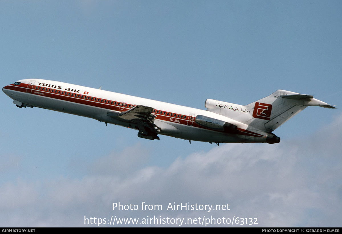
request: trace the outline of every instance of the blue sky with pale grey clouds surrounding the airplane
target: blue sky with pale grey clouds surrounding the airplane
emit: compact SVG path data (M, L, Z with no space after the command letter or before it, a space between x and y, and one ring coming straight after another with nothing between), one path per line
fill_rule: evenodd
M2 86L41 78L199 109L207 98L246 105L283 89L340 108L341 6L1 1ZM0 100L0 226L84 226L84 216L111 215L340 226L340 109L305 109L274 132L279 144L218 147L166 136L149 141L92 119L19 109L5 94ZM111 209L143 201L163 208L229 203L231 210Z

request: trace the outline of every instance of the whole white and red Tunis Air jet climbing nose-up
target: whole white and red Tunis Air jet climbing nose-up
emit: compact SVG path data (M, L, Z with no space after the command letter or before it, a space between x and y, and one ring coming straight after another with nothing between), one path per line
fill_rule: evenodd
M39 107L158 135L209 143L279 143L272 132L307 106L336 108L312 95L277 90L246 106L207 99L200 110L58 81L18 80L2 91L19 107Z

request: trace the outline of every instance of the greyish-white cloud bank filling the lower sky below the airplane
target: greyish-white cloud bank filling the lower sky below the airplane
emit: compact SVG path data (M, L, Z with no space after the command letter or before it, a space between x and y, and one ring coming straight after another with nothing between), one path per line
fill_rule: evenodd
M0 188L0 225L83 226L84 216L186 219L212 215L258 218L258 226L339 226L341 122L339 115L314 136L280 144L214 146L209 152L177 158L167 168L139 166L147 161L148 150L136 145L93 162L81 180L8 182ZM137 204L139 210L113 211L113 202ZM142 202L161 204L163 210L141 211ZM213 207L229 203L230 210L166 210L169 203L187 202Z

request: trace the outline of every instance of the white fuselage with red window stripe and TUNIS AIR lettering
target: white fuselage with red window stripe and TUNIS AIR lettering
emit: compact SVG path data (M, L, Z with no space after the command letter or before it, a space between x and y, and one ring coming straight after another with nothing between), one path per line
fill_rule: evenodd
M19 84L16 84L19 83ZM93 118L105 123L138 129L135 123L108 116L109 111L124 112L142 105L153 108L158 134L206 142L265 142L267 133L227 116L166 102L124 95L58 81L25 79L3 87L3 92L21 107L40 107ZM226 121L238 126L238 133L208 129L195 122L197 115ZM168 126L172 127L168 127ZM177 130L173 130L176 128ZM171 129L171 130L170 130Z

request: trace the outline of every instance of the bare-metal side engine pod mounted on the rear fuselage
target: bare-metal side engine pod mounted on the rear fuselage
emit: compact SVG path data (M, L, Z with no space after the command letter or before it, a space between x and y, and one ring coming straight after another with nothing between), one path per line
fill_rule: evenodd
M206 127L212 130L218 130L227 133L237 131L237 126L234 124L225 122L223 120L210 118L204 115L197 115L195 122L202 127Z

